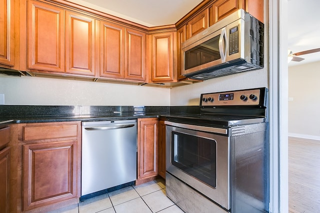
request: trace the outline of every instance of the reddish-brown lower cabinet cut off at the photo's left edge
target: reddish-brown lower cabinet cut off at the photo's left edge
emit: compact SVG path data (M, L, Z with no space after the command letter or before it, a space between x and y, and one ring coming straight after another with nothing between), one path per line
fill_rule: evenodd
M0 128L0 211L9 213L10 127Z

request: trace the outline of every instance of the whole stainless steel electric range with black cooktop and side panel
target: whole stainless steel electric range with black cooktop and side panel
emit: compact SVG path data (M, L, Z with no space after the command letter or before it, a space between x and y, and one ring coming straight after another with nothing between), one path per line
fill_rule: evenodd
M268 212L267 89L201 94L169 116L166 195L186 213Z

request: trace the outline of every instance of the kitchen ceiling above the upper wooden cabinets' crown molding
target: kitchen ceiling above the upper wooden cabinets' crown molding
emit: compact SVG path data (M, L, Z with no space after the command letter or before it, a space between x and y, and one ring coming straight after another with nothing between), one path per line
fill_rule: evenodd
M202 0L68 0L144 26L174 24Z

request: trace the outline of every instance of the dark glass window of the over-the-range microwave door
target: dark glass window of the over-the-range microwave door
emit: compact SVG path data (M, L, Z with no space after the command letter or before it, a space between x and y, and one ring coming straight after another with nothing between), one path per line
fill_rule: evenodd
M219 37L220 35L217 35L204 43L185 51L184 70L220 59Z

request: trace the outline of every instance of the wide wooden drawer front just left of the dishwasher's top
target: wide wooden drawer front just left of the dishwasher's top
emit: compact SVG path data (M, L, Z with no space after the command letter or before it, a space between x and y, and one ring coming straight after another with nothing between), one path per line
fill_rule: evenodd
M45 140L54 138L76 137L76 124L41 125L23 127L23 140Z

